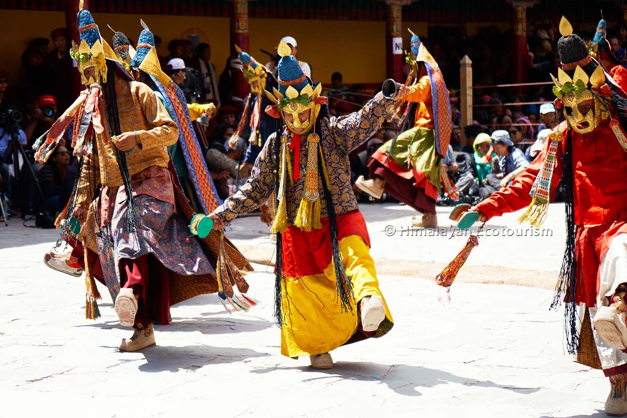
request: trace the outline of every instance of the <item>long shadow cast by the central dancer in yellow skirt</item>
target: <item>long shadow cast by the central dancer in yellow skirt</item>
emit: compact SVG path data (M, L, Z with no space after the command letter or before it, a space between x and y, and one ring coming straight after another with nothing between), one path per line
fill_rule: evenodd
M456 383L465 386L494 387L512 390L519 394L532 394L541 387L516 387L501 385L489 380L476 380L450 374L436 368L411 366L404 364L384 365L371 362L337 362L329 370L313 370L308 366L257 368L251 373L265 374L274 370L302 370L312 374L311 379L364 380L364 382L381 382L400 395L422 396L421 387ZM322 376L320 375L322 374Z

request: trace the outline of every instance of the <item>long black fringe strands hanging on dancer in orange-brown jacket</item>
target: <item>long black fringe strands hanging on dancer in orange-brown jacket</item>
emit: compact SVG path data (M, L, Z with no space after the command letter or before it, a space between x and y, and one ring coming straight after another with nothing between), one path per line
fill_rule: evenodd
M107 83L103 85L102 96L105 103L107 127L111 137L122 133L122 129L120 128L120 115L117 108L117 92L115 91L115 71L115 64L111 61L107 61L107 73L109 77L107 78ZM135 221L135 198L133 197L133 188L130 183L129 167L126 163L126 154L115 147L115 145L113 146L113 150L120 169L120 175L122 175L124 191L126 192L129 232L134 233L137 231L137 222Z

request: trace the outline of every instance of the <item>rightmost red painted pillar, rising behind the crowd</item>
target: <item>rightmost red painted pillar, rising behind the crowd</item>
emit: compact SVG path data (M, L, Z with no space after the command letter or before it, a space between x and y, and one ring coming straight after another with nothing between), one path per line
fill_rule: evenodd
M533 7L537 0L509 0L507 3L514 8L512 19L512 83L527 83L527 65L529 54L527 52L527 8ZM526 91L524 86L514 88L515 95L522 95Z

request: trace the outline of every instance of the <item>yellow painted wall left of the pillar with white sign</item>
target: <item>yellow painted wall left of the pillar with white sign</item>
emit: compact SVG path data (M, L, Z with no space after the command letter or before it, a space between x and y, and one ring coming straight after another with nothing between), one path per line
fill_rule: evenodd
M0 68L11 72L11 83L21 84L20 56L30 39L48 38L52 29L65 26L62 12L2 10L0 25ZM139 19L144 18L150 30L163 39L160 55L167 55L167 43L181 38L190 29L203 41L209 41L212 61L221 73L229 53L229 19L195 16L95 13L94 19L105 38L111 42L110 24L133 41L139 38ZM250 50L256 59L266 62L259 48L273 50L283 36L298 41L298 56L312 66L312 75L330 83L331 74L340 71L345 83L372 83L385 79L385 22L250 19ZM53 49L50 44L50 49Z

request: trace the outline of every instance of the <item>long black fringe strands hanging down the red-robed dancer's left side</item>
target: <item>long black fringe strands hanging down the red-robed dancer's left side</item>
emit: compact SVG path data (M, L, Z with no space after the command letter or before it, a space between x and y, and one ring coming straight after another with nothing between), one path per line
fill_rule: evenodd
M562 268L559 272L559 280L553 295L551 309L557 309L562 297L566 306L564 308L564 337L566 348L570 354L576 354L579 350L579 333L577 332L577 263L575 259L575 216L572 190L572 135L568 131L566 137L566 152L564 152L564 171L562 172L562 192L566 204L566 249L562 259Z

